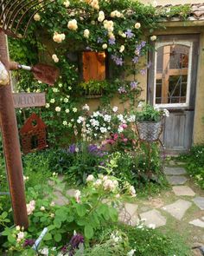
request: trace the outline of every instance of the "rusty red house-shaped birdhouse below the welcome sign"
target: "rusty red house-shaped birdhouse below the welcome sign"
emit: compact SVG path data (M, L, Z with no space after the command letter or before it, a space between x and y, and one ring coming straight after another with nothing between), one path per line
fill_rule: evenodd
M24 154L48 148L46 127L46 124L35 113L25 121L20 130L22 152Z

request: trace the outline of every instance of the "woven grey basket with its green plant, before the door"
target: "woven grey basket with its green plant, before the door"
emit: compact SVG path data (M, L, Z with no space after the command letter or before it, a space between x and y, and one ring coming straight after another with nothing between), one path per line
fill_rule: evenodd
M149 104L143 106L142 111L136 115L137 132L142 141L156 141L163 131L162 120L169 116L167 109L153 107Z

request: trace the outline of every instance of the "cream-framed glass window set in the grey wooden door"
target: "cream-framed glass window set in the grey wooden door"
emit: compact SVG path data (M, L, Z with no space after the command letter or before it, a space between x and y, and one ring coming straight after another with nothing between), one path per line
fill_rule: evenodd
M157 43L154 104L188 106L192 43Z

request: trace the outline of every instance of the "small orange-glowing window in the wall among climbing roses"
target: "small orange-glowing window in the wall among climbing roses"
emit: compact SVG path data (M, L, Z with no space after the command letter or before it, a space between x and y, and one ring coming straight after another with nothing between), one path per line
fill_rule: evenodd
M105 52L85 51L82 54L83 80L103 81L105 80Z

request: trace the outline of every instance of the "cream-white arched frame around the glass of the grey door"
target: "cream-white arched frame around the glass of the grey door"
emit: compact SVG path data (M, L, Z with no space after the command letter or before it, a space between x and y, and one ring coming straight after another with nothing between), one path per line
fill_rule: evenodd
M188 108L190 104L190 91L191 91L191 74L192 74L192 62L193 62L193 42L188 40L178 40L176 42L160 42L156 43L156 52L155 52L155 63L154 63L154 95L153 95L153 105L159 108ZM188 56L188 81L187 81L187 95L185 103L156 103L156 69L157 69L157 49L163 46L172 46L172 45L183 45L189 47L189 56Z

